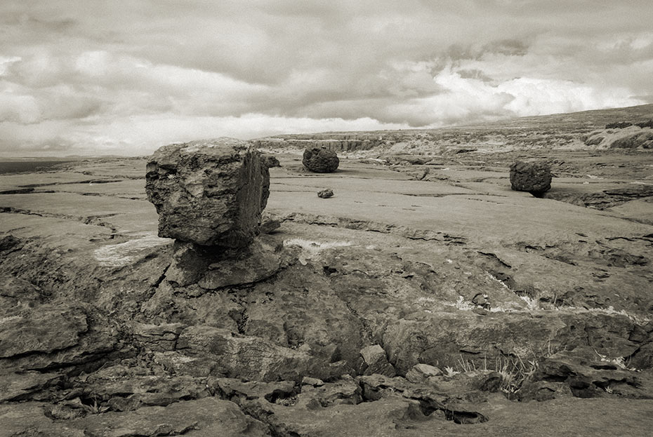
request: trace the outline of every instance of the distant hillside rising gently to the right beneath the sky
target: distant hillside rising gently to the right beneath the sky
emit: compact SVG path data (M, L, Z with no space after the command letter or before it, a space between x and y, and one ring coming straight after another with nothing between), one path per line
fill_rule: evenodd
M439 129L288 134L253 140L263 149L327 147L336 152L442 154L461 149L598 149L585 144L608 123L653 119L653 105L506 119Z

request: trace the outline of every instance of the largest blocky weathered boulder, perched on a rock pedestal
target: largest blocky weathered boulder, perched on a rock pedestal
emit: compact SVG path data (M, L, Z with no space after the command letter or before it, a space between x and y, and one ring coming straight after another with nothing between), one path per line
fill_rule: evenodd
M146 181L159 236L202 246L249 245L270 194L260 154L226 137L161 147L147 163Z

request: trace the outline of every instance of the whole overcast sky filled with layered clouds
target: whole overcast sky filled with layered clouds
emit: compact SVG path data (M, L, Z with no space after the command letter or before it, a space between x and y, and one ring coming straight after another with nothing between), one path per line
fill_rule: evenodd
M651 0L1 0L0 155L653 102Z

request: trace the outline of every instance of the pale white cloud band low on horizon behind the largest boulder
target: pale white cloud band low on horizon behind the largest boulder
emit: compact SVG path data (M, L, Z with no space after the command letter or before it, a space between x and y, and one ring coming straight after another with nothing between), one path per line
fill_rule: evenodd
M333 130L402 129L400 123L381 123L375 119L310 119L265 114L244 114L234 117L178 116L154 114L130 116L102 123L75 126L74 121L44 121L24 126L0 123L0 137L14 144L13 154L131 154L154 152L164 144L199 138L237 137L249 140L282 133L317 133Z

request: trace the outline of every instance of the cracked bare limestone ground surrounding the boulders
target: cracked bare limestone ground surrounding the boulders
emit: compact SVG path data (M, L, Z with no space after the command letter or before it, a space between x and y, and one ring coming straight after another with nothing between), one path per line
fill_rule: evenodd
M648 435L652 156L278 156L249 251L157 237L143 159L2 177L0 433Z

